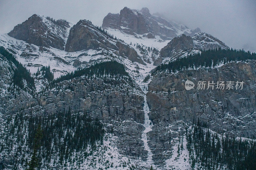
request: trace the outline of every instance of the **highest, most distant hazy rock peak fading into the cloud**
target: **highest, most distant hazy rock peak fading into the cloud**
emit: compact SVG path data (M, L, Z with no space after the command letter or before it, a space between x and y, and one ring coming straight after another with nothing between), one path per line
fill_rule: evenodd
M181 33L193 36L195 33L200 32L199 28L192 30L187 26L171 24L160 16L151 15L148 8L131 10L130 8L124 7L120 11L120 14L108 13L103 19L102 27L119 29L124 33L132 35L135 33L147 33L145 36L148 38L160 36L163 40L171 40Z

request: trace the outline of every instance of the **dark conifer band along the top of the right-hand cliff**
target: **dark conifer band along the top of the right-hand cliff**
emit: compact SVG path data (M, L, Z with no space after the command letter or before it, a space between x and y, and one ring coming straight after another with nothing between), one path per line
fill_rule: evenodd
M244 50L236 49L221 49L216 48L212 50L204 50L201 53L190 54L183 58L178 58L175 61L169 62L168 64L162 64L157 66L152 72L155 74L157 71L168 71L168 72L179 72L183 69L196 69L196 68L207 68L215 67L222 63L231 61L244 61L244 60L256 60L256 53L250 51L245 52Z

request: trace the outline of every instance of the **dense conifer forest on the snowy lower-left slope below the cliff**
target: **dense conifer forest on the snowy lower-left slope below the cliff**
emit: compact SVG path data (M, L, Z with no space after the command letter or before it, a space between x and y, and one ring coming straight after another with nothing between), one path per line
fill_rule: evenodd
M18 113L7 117L3 126L6 131L0 132L0 155L19 155L14 162L11 157L5 159L10 160L9 165L24 169L82 164L102 145L105 134L98 119L86 111L70 109L52 115Z

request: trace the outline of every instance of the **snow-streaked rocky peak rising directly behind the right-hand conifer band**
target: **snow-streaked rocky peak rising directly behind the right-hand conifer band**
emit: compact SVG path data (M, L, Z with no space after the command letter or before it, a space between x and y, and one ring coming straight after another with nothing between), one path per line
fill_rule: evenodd
M164 59L169 59L168 61L170 61L178 58L186 52L186 55L189 55L190 53L197 52L194 50L208 50L219 47L229 49L225 43L204 32L200 32L193 37L181 34L172 39L167 46L161 49L159 58L154 62L154 65L159 65ZM161 62L159 62L159 60Z

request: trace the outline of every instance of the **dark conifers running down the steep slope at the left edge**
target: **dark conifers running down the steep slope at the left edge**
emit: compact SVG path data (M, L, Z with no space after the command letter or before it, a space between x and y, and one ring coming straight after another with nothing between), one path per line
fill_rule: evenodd
M27 70L27 68L24 67L19 61L17 61L11 53L5 50L3 46L0 46L0 54L2 54L10 62L10 64L13 63L16 67L16 69L12 68L14 72L12 78L14 88L15 86L18 86L24 91L27 91L28 89L30 89L30 91L34 91L35 80L33 77L31 77L30 71ZM27 86L23 80L27 82Z

